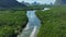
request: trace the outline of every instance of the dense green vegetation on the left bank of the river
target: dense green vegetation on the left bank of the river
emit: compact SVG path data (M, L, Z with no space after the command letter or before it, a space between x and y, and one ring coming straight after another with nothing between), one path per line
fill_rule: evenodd
M26 22L25 11L0 10L0 37L16 37Z

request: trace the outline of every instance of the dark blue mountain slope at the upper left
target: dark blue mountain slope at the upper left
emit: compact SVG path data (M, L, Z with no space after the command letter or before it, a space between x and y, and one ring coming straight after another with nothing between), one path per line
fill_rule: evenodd
M23 8L26 7L23 3L19 3L16 0L0 0L0 8Z

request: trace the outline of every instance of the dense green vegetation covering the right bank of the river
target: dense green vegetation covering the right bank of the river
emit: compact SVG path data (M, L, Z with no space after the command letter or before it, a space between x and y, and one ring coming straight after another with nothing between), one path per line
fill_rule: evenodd
M66 7L37 11L36 15L42 21L37 37L66 37Z

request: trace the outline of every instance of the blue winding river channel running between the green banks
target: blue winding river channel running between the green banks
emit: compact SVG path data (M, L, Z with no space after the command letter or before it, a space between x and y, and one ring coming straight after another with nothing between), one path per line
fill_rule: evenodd
M26 11L29 23L18 37L36 37L41 21L35 15L35 11Z

